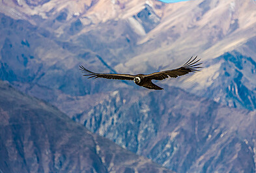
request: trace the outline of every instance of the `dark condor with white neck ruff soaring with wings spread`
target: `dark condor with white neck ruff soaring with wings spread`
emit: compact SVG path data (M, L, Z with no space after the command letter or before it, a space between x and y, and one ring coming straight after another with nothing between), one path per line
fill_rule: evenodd
M178 77L180 75L186 75L190 72L198 72L200 71L199 68L202 68L202 63L199 63L199 60L197 57L193 59L191 57L183 66L180 68L175 68L173 70L165 70L162 72L155 72L150 73L147 75L144 74L137 74L137 75L130 75L130 74L119 74L119 73L94 73L90 70L87 70L83 66L79 66L80 70L85 73L83 76L89 76L89 78L94 77L94 79L98 77L106 78L106 79L120 79L120 80L133 80L135 84L149 88L152 90L163 90L164 88L161 88L154 83L152 83L152 80L164 80L168 77Z

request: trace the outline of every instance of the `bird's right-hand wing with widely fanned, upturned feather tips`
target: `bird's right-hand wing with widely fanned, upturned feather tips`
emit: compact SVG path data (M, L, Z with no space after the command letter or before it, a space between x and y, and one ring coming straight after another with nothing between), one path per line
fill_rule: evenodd
M200 71L199 65L201 65L202 63L197 63L199 62L199 60L201 59L197 59L197 57L195 57L194 59L192 59L193 57L191 57L188 62L186 62L182 67L180 68L175 68L173 70L166 70L166 71L162 71L162 72L156 72L156 73L150 73L148 75L145 75L145 77L149 77L150 79L154 79L154 80L164 80L167 77L178 77L180 75L186 75L187 73L190 72L197 72Z

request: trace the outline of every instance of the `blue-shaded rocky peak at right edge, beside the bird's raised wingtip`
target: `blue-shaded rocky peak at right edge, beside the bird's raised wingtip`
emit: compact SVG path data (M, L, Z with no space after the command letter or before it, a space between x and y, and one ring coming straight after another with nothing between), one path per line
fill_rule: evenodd
M230 107L256 109L256 62L253 58L231 51L208 60L204 66L203 73L178 79L176 86Z

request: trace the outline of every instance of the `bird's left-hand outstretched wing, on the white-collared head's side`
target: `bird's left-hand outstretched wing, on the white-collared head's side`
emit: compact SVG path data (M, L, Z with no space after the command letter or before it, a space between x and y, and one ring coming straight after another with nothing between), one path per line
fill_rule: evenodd
M88 78L102 77L102 78L106 78L106 79L134 80L134 77L135 77L135 75L130 75L130 74L94 73L94 72L87 70L83 66L79 66L79 67L80 67L80 70L83 73L85 73L85 75L83 75L83 76L89 76Z

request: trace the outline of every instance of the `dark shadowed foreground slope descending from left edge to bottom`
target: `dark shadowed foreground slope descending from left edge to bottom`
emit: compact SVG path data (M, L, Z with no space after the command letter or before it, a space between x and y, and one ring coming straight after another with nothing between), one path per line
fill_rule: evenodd
M171 172L0 81L1 172Z

